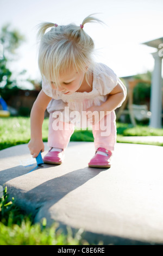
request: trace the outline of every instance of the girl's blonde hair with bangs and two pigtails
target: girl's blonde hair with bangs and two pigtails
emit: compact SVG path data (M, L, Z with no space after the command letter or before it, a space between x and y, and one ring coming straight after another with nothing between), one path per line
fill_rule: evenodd
M103 23L91 15L87 16L79 26L73 23L66 26L40 23L37 33L37 38L40 39L38 64L43 79L49 83L53 81L59 84L60 73L72 68L84 71L87 66L87 80L87 75L95 66L93 61L95 44L83 29L83 26L89 22ZM48 28L51 30L46 33Z

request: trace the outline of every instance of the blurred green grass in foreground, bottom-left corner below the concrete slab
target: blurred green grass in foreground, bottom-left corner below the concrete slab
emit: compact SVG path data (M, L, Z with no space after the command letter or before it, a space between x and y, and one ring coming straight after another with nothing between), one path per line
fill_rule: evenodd
M82 240L81 230L73 235L70 228L67 234L57 228L57 223L46 227L45 218L42 223L33 224L33 217L26 216L14 198L9 200L5 187L0 198L0 245L89 245Z

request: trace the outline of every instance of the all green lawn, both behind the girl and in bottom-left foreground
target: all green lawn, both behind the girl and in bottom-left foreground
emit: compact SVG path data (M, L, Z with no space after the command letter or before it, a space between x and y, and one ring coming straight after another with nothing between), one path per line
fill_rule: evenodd
M48 118L43 121L42 138L47 142ZM124 142L123 136L163 136L162 129L151 129L148 126L117 123L117 142ZM0 150L14 145L28 143L30 139L30 119L24 117L9 117L0 119ZM93 142L91 130L75 130L71 141ZM127 141L126 141L127 142ZM131 143L131 142L129 142ZM133 142L134 143L134 142ZM143 143L145 144L145 143ZM149 143L148 143L149 144ZM150 143L162 146L161 143ZM4 196L0 198L0 245L88 245L83 241L80 230L68 235L57 231L57 224L46 227L46 220L33 224L33 216L26 216L10 199L5 188Z

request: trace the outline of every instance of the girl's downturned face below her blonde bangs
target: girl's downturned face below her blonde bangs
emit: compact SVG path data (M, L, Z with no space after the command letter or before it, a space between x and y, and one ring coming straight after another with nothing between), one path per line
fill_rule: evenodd
M51 81L51 85L53 89L58 90L62 94L71 95L72 93L77 92L78 89L82 86L84 76L84 71L70 70L68 72L65 72L64 74L60 74L60 86L58 85L58 87L56 87L53 81Z

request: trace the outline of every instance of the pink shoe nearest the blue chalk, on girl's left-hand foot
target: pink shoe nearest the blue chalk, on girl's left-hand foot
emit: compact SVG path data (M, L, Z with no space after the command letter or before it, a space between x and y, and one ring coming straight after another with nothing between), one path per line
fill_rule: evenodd
M51 151L51 148L48 153L43 157L43 162L52 163L52 164L61 164L64 160L64 150L59 151Z

